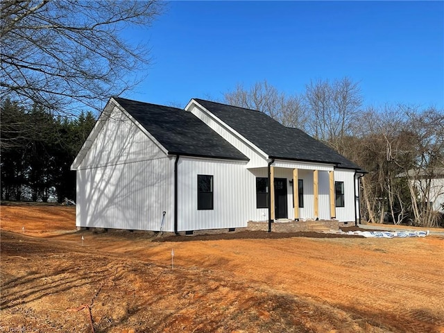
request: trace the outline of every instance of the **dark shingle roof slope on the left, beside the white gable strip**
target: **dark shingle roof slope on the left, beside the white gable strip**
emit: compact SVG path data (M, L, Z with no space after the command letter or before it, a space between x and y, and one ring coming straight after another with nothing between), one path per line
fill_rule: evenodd
M248 160L244 154L200 121L178 108L114 97L171 155Z

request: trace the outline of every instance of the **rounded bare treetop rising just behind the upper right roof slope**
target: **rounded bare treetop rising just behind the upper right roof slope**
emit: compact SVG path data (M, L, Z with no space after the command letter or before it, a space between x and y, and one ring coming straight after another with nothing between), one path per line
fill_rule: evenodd
M303 128L306 123L305 108L300 96L287 96L266 80L255 83L249 89L239 84L232 92L224 94L224 101L264 112L284 126Z

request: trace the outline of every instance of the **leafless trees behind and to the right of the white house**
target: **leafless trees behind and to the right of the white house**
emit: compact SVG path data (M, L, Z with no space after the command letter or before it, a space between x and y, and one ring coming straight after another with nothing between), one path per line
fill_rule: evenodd
M334 148L367 171L361 178L364 221L444 226L444 112L433 106L364 107L350 78L314 80L285 94L266 80L237 85L224 102L265 112Z

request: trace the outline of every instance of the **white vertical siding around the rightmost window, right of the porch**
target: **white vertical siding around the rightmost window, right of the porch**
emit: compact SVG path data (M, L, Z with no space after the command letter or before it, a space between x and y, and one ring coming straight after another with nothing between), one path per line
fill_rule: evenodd
M355 171L336 169L334 170L334 181L344 182L345 207L336 207L336 219L341 222L355 221Z

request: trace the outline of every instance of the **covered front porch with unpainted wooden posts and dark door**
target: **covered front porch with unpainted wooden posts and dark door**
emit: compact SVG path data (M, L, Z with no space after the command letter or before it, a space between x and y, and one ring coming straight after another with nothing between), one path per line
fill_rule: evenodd
M344 182L335 181L334 165L273 161L268 168L249 170L256 177L261 221L336 221L336 205L344 201Z

